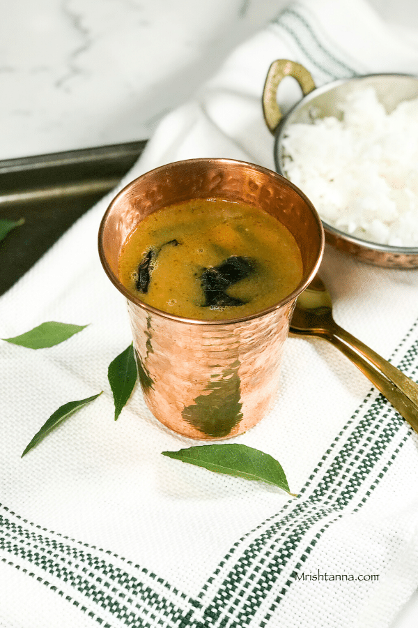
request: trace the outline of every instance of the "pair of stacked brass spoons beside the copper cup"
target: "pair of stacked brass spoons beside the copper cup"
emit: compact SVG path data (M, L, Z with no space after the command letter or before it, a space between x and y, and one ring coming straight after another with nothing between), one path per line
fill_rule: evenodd
M346 355L418 432L418 384L378 353L339 327L332 317L332 301L318 276L297 297L291 334L316 336Z

